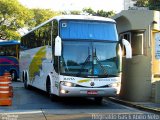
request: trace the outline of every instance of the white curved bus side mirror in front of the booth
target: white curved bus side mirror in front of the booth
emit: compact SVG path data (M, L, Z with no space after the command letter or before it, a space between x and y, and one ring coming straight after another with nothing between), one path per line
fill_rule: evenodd
M126 58L132 58L131 44L126 39L122 39L122 44L126 49Z

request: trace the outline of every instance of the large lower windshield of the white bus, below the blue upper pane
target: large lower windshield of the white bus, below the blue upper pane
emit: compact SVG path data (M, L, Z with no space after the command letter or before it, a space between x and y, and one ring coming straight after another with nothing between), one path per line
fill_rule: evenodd
M61 74L85 77L119 75L117 42L63 41Z

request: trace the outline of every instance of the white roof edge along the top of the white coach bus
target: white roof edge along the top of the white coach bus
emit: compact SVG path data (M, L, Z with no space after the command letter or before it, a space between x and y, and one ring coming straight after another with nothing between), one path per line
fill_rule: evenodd
M51 22L52 20L88 20L88 21L105 21L105 22L113 22L116 23L115 20L111 19L111 18L105 18L105 17L100 17L100 16L90 16L90 15L60 15L60 16L55 16L45 22L43 22L42 24L34 27L31 31L27 32L26 34L24 34L23 36L27 35L28 33L31 33L32 31L38 29L39 27L45 25L46 23Z

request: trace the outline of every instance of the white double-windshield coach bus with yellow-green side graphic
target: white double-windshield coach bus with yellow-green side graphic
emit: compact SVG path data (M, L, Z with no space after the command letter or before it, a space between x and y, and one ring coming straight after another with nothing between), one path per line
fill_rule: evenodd
M25 88L60 97L115 96L121 83L122 51L114 20L96 16L54 17L21 39L20 74Z

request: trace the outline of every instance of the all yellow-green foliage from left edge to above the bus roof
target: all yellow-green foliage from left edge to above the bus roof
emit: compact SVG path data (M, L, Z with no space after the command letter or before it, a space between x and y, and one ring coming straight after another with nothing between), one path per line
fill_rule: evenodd
M18 0L0 0L0 39L20 39L19 29L32 29L57 14L49 9L28 9Z

